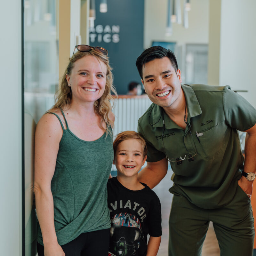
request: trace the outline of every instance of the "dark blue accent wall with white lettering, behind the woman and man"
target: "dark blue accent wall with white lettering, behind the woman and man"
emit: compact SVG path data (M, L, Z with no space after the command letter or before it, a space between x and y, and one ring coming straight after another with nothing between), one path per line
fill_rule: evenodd
M131 81L141 83L135 62L144 50L144 0L108 0L107 3L108 12L101 13L100 0L95 0L95 31L90 31L90 45L108 50L117 93L126 94Z

